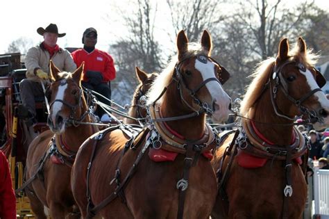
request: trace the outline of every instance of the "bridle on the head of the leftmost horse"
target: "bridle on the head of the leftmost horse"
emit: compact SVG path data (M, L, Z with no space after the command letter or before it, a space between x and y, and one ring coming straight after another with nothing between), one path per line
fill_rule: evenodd
M67 83L67 80L60 79L60 85L61 86L64 86L66 83ZM76 84L76 86L78 86L78 84ZM80 117L78 117L78 118L75 117L76 110L78 108L82 107L82 98L83 98L83 95L82 95L83 89L80 88L80 86L78 86L78 88L79 88L79 92L78 92L78 97L76 98L76 104L69 104L68 102L65 102L62 99L54 99L53 102L50 102L50 100L51 100L50 99L51 98L50 86L47 88L47 90L45 92L45 95L48 99L48 102L50 103L49 104L49 109L51 109L51 107L53 106L53 104L55 102L60 102L60 103L64 104L65 106L67 106L67 108L69 108L69 110L70 110L69 118L66 121L64 121L65 122L65 127L70 127L71 125L74 125L75 127L77 127L78 125L76 125L76 122L83 121L85 119L85 117L87 116L87 114L90 113L90 110L87 109L87 111L85 111ZM48 117L48 120L51 121L51 117Z

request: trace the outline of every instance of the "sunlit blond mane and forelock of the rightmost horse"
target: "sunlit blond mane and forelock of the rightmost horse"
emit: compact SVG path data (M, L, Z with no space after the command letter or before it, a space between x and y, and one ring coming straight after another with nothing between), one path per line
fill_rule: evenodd
M294 45L294 48L289 51L289 60L296 60L303 63L306 67L312 67L317 63L319 56L312 52L312 49L307 49L305 53L301 53L298 43ZM246 89L246 94L241 102L240 113L243 116L248 115L249 110L253 107L258 97L261 95L264 84L269 79L269 74L272 72L272 67L276 62L276 58L268 58L258 64L255 72L249 77L253 78L253 81Z

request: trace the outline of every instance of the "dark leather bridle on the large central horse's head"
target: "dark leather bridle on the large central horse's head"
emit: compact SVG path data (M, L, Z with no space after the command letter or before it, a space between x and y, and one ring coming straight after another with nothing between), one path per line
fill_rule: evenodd
M196 86L196 88L191 89L184 82L183 76L182 76L182 73L180 70L183 63L187 59L188 58L185 58L183 60L180 60L178 63L176 63L175 68L174 68L175 74L173 74L173 77L172 77L172 79L174 81L176 81L176 83L177 83L177 89L179 90L179 93L180 93L180 99L182 99L182 101L185 105L187 105L189 108L191 108L194 112L198 113L198 115L203 112L207 113L208 115L212 115L212 113L214 113L212 108L210 108L210 106L207 103L202 102L201 99L199 99L199 97L196 95L196 92L198 92L201 88L203 88L203 86L206 85L206 83L208 83L210 81L217 81L220 85L223 85L223 83L225 83L228 80L228 78L230 77L230 74L226 71L226 69L224 67L219 65L219 63L217 63L217 61L214 60L213 58L211 58L209 56L198 55L198 56L196 56L196 59L199 60L201 63L208 63L208 61L210 61L212 63L219 65L221 70L219 70L219 72L217 72L219 79L217 79L217 77L212 77L212 78L206 79L205 81L202 81L198 86ZM196 110L193 106L191 106L184 99L182 87L187 90L187 92L189 93L189 96L192 97L194 102L199 106L198 110Z

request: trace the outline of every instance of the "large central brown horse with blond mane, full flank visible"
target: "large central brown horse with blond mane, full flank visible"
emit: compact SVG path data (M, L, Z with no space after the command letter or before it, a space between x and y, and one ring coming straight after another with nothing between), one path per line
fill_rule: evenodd
M231 99L221 83L229 74L210 58L208 31L194 44L180 31L176 45L177 58L148 92L149 125L132 137L112 127L78 150L71 186L82 218L210 216L217 184L206 156L217 138L205 114L228 119Z

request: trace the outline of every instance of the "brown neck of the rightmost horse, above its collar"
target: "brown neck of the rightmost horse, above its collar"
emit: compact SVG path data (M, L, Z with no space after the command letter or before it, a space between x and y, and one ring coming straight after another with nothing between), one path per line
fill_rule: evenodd
M287 105L289 105L288 102ZM271 104L269 89L264 92L255 106L251 108L247 117L250 117L255 121L254 124L256 129L258 129L262 136L267 140L276 145L290 145L293 131L292 121L276 115ZM292 125L284 126L276 124Z

